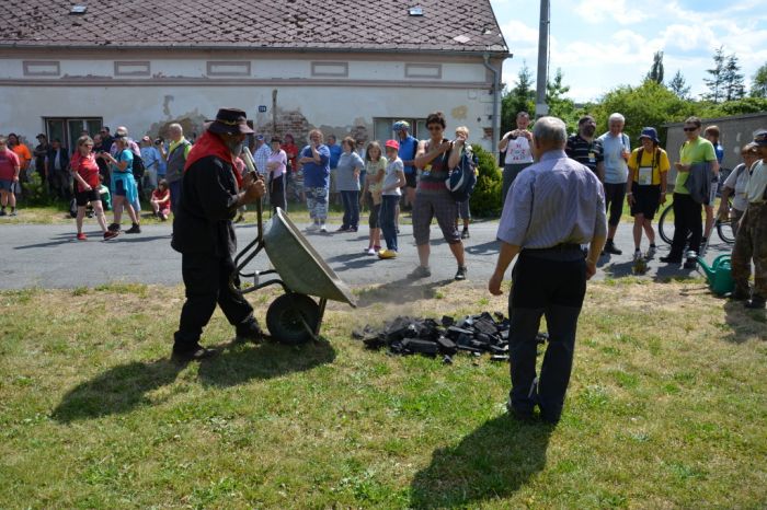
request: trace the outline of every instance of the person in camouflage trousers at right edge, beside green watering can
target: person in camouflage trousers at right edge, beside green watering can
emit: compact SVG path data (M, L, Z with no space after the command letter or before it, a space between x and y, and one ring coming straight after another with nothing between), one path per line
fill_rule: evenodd
M741 219L732 251L732 277L735 290L732 299L745 300L748 309L764 309L767 300L767 130L754 136L759 157L749 172L746 185L748 206ZM748 301L751 260L754 260L754 290Z

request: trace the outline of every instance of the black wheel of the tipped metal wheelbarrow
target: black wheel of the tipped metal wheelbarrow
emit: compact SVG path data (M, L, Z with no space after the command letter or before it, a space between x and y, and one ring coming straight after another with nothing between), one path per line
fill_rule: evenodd
M319 321L320 305L305 294L281 295L266 311L266 327L272 337L286 345L309 341Z

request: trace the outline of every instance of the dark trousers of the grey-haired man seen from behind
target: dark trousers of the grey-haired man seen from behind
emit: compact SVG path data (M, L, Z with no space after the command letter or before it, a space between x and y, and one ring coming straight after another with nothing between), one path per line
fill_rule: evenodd
M573 367L577 317L586 293L586 263L582 253L539 256L523 251L512 281L508 305L512 407L528 414L537 404L545 419L557 421ZM546 316L549 344L535 386L536 335L541 316Z

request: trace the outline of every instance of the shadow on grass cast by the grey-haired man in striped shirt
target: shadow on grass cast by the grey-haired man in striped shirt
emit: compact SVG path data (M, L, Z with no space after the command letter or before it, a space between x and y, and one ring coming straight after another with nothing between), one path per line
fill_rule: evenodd
M473 508L513 495L546 466L553 429L507 414L486 421L457 447L432 454L411 484L411 507Z

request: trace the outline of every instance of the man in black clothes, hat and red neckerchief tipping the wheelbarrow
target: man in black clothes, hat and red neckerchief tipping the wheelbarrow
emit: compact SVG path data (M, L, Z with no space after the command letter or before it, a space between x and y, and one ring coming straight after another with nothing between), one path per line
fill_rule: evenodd
M238 207L259 200L265 193L263 181L253 174L240 178L233 162L245 135L253 130L245 123L245 113L231 108L219 109L216 120L206 128L186 159L183 192L173 220L171 245L182 254L186 288L173 345L173 358L179 361L216 353L201 346L199 337L217 303L238 338L261 339L253 308L229 288L237 252L231 220Z

